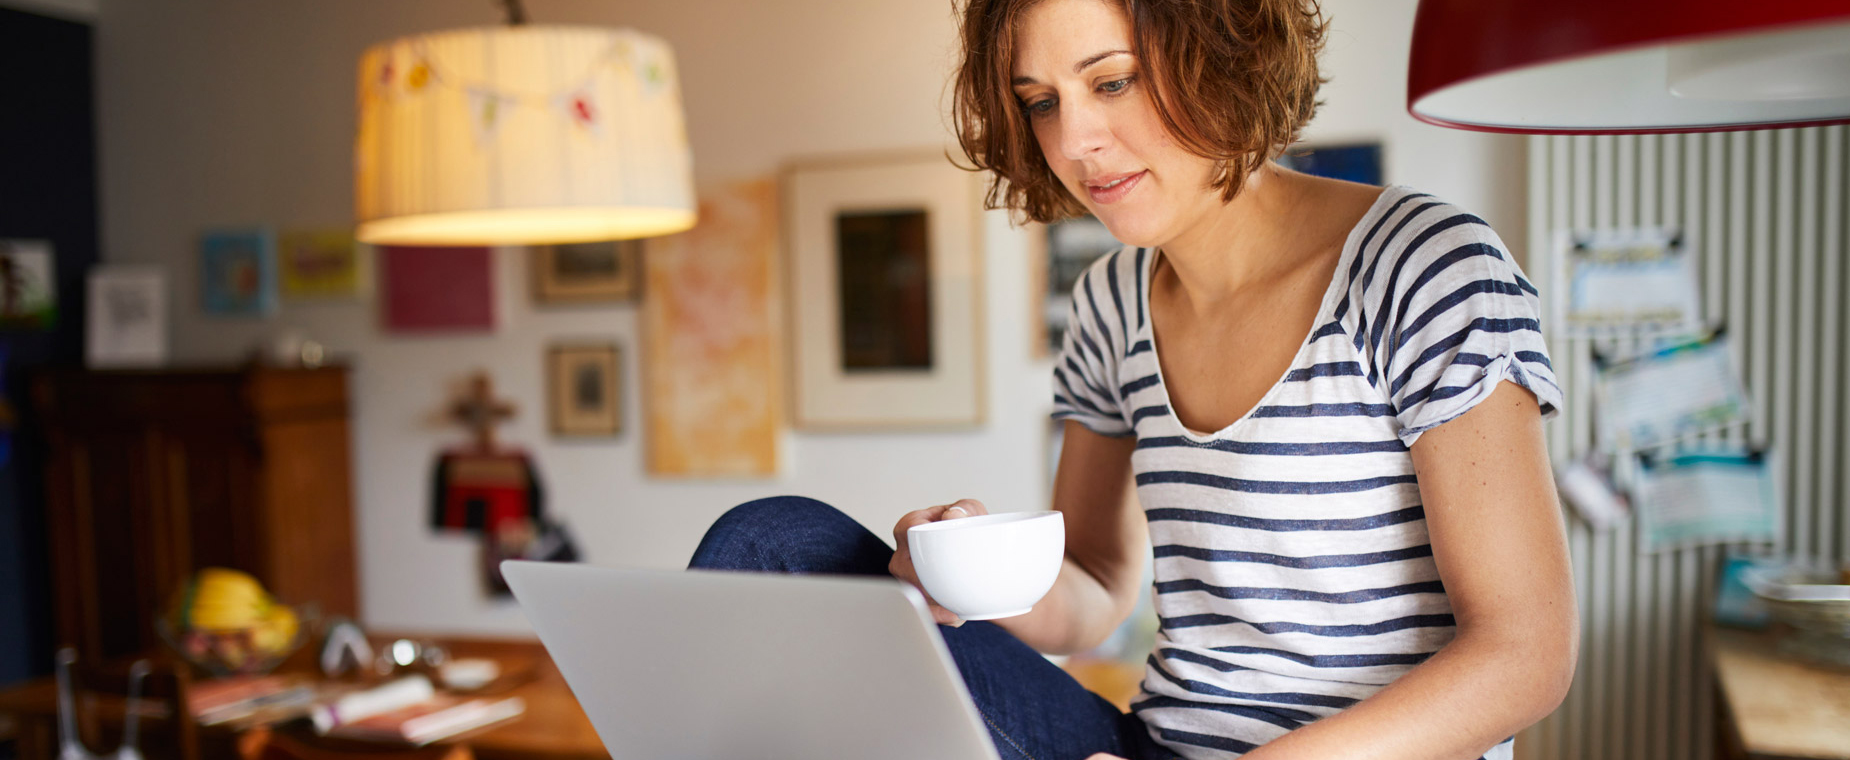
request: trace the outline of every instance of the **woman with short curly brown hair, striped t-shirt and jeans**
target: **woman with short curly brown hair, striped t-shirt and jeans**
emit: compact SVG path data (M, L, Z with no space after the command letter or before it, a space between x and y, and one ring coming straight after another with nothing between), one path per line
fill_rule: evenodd
M956 120L992 207L1128 248L1056 366L1067 557L1032 612L932 605L1005 758L1510 758L1578 621L1541 436L1537 296L1476 216L1271 163L1315 113L1315 0L969 0ZM1143 514L1121 505L1134 473ZM727 514L694 566L888 571L807 499ZM1034 651L1097 645L1154 544L1128 716Z

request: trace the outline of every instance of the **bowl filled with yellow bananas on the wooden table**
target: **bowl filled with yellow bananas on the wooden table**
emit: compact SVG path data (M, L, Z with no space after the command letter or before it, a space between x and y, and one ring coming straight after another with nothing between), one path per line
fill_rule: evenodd
M204 568L174 592L154 627L187 662L215 675L265 675L307 640L314 608L276 601L250 573Z

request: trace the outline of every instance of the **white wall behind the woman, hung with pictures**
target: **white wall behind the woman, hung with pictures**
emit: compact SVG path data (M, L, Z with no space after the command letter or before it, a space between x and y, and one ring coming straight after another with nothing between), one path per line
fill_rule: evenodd
M1521 146L1412 122L1400 105L1413 0L1328 2L1330 105L1314 139L1382 137L1391 181L1439 192L1521 229ZM940 105L955 59L947 0L529 0L536 22L635 26L666 37L683 74L701 181L773 172L794 155L947 144ZM660 481L642 468L636 314L531 307L525 268L500 251L503 329L394 338L372 303L285 305L272 320L196 307L194 237L222 224L320 226L352 218L353 68L376 41L498 20L488 0L102 0L98 76L104 255L161 263L172 277L179 362L242 357L300 327L352 362L361 595L370 625L524 631L477 592L475 545L426 531L433 453L461 438L433 416L481 368L522 414L503 440L529 447L548 507L592 562L673 568L727 507L770 494L836 503L882 536L905 510L979 497L1040 509L1049 366L1027 355L1023 237L988 224L990 423L968 433L786 436L775 481ZM542 353L551 340L625 344L629 429L616 442L544 431Z

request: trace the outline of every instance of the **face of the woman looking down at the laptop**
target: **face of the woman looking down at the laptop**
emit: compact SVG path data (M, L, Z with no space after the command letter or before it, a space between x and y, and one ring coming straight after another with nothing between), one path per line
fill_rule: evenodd
M1112 235L1162 246L1219 207L1214 161L1164 129L1106 0L1043 0L1016 28L1014 91L1047 166Z

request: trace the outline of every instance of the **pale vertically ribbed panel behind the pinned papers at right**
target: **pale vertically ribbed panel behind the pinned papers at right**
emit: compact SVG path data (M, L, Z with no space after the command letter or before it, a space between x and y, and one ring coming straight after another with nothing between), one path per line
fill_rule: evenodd
M1850 342L1846 281L1850 129L1709 135L1532 137L1524 270L1547 296L1556 229L1672 226L1698 264L1704 316L1726 325L1754 418L1708 442L1772 446L1785 534L1770 547L1850 555ZM1552 309L1552 301L1545 298ZM1545 313L1547 325L1563 324ZM1550 353L1567 411L1548 451L1567 462L1593 444L1595 349L1632 340L1567 340ZM1574 686L1526 730L1524 760L1711 760L1715 699L1702 631L1715 573L1711 545L1637 551L1634 527L1593 531L1569 518L1582 645Z

